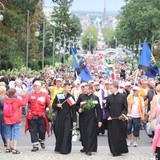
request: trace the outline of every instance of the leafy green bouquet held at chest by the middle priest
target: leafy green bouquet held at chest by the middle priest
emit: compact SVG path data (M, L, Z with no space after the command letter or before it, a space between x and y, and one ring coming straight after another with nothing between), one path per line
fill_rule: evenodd
M83 101L80 103L80 112L84 110L90 110L95 107L95 105L98 104L97 100L93 100L92 98L86 101Z

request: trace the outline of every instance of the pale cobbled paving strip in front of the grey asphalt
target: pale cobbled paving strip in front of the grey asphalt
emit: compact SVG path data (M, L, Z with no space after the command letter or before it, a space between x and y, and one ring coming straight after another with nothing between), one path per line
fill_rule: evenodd
M98 152L92 156L80 153L80 146L74 146L72 153L61 155L54 152L53 146L47 146L45 150L40 149L38 152L31 152L30 146L20 146L21 154L13 155L12 153L0 153L0 160L150 160L153 156L150 147L130 147L129 153L119 157L112 157L108 147L100 146Z

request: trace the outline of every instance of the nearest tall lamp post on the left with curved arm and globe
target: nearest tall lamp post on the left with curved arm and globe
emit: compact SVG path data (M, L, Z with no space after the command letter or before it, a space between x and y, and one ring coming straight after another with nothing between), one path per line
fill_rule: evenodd
M29 10L27 10L27 45L26 45L26 67L28 68L28 57L29 57L29 43L30 43L30 29L32 25L35 25L37 27L37 30L35 32L35 37L39 36L39 30L40 25L36 22L33 22L30 24L29 19Z

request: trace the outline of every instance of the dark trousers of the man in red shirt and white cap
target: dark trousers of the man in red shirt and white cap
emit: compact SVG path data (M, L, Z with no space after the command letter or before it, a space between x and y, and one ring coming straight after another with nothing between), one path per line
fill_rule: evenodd
M43 117L33 117L29 120L29 132L31 134L31 142L37 143L39 140L45 140L46 123Z

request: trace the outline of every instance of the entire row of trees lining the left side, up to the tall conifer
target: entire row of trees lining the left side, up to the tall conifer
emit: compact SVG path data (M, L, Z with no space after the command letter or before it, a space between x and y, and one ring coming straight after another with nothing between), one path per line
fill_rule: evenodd
M64 43L74 39L81 34L79 19L70 13L73 0L53 0L55 3L52 12L52 20L49 23L42 10L41 0L1 0L5 6L4 20L0 22L0 69L21 68L26 64L26 43L27 43L27 11L29 10L29 23L40 25L40 36L35 37L36 27L29 26L29 64L32 69L39 70L42 66L42 40L43 40L43 21L46 22L46 31L54 33L55 43L59 41L59 48L65 46ZM51 25L51 24L55 25ZM45 65L52 62L52 43L48 39L51 35L46 34L45 44ZM58 42L57 42L58 43ZM56 51L59 50L56 49ZM65 50L66 51L66 50ZM55 62L58 55L55 54ZM61 59L62 61L62 59Z

